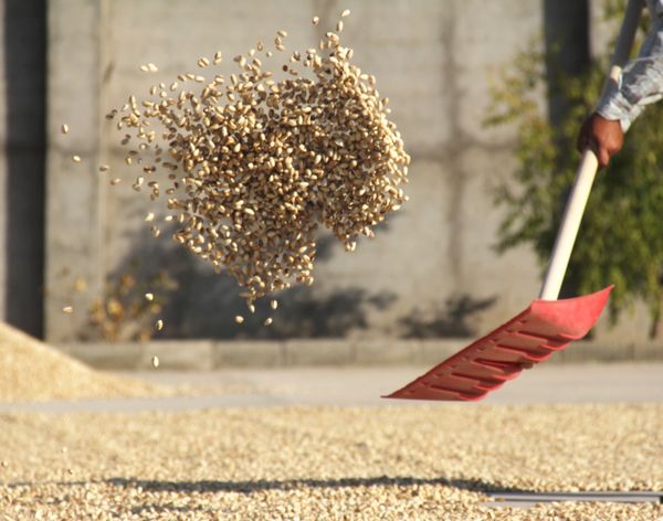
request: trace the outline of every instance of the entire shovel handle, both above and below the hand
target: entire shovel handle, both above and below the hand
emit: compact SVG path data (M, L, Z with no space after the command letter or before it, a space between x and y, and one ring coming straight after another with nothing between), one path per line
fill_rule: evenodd
M602 96L619 86L622 66L629 60L643 6L643 0L629 0L624 21L622 22L612 55L612 66L606 79ZM559 297L561 283L569 265L573 244L580 228L580 221L582 221L582 214L585 213L585 206L587 205L598 167L599 161L594 152L590 149L585 150L576 172L576 180L573 181L564 216L561 217L561 224L559 232L557 232L552 255L550 256L550 264L546 270L546 277L544 278L544 285L539 294L539 298L543 300L557 300Z

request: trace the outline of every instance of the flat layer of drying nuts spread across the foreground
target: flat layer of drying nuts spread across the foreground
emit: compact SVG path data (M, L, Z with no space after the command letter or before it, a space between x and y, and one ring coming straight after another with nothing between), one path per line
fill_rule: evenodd
M6 519L652 520L663 515L654 501L491 504L507 492L661 490L661 415L580 405L6 414L0 507ZM619 434L593 442L606 430Z

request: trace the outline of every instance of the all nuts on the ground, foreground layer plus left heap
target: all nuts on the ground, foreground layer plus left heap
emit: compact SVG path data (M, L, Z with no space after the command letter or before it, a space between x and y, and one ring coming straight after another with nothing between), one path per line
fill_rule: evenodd
M328 393L313 382L288 387L295 373L261 385L192 375L182 385L102 373L7 327L0 342L2 519L663 515L651 493L663 489L660 402L304 405ZM378 395L375 370L326 371L313 379L349 386L355 400ZM260 400L238 407L241 396ZM583 491L593 499L579 501Z

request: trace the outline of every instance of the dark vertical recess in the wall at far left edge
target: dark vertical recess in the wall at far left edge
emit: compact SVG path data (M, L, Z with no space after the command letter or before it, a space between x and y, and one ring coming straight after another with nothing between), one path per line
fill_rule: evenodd
M43 332L46 2L4 0L4 155L9 323Z

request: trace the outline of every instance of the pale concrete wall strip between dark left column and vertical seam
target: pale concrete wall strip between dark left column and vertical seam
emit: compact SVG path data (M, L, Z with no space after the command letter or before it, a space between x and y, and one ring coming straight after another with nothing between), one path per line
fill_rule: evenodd
M48 339L85 329L86 311L103 290L102 53L105 3L61 0L49 10L49 149L46 201ZM109 20L108 20L109 21ZM60 132L62 124L71 128ZM72 162L72 155L83 158ZM76 279L87 290L74 290ZM63 306L75 312L63 316Z

